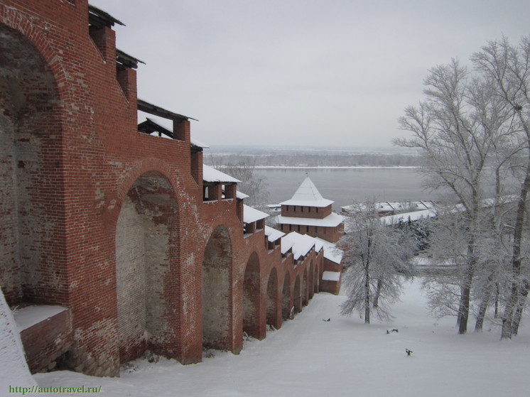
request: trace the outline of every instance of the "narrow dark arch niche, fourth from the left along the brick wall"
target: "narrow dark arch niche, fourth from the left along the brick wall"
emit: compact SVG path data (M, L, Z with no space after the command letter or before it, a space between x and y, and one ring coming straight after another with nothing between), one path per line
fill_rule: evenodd
M250 254L243 276L243 332L261 339L260 327L261 267L256 252Z

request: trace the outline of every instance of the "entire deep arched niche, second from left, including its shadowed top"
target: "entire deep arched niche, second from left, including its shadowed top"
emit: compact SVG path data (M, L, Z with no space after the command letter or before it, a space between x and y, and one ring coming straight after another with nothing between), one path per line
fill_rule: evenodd
M180 297L178 237L173 185L158 171L142 173L120 202L114 234L121 361L164 352L178 337L167 313L180 305L165 298Z

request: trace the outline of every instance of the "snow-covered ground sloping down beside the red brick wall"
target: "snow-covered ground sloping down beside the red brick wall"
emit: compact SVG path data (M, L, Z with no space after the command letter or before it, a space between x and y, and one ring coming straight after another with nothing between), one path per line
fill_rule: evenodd
M281 330L245 342L239 356L218 352L189 366L137 360L120 379L67 371L35 378L39 386L102 386L103 396L529 396L528 327L511 341L500 342L492 325L457 335L453 318L429 317L419 280L407 285L392 324L341 317L343 299L315 295ZM399 332L386 334L393 328Z

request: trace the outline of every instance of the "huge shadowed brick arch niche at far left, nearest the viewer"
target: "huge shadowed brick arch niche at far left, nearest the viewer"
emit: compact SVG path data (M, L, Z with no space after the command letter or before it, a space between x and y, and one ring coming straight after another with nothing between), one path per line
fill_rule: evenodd
M23 21L5 16L14 11L0 10L0 241L6 248L0 285L10 305L67 305L58 77L38 47L45 43L34 36L45 38L25 35L18 26Z

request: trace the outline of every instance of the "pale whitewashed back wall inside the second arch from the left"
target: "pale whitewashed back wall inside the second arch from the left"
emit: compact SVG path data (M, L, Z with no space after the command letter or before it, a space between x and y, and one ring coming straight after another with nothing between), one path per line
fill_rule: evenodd
M156 180L142 180L152 183ZM141 195L138 187L133 187ZM117 224L117 294L121 346L130 342L163 342L168 329L165 318L165 275L169 270L168 210L170 197L147 192L138 202L127 197Z

